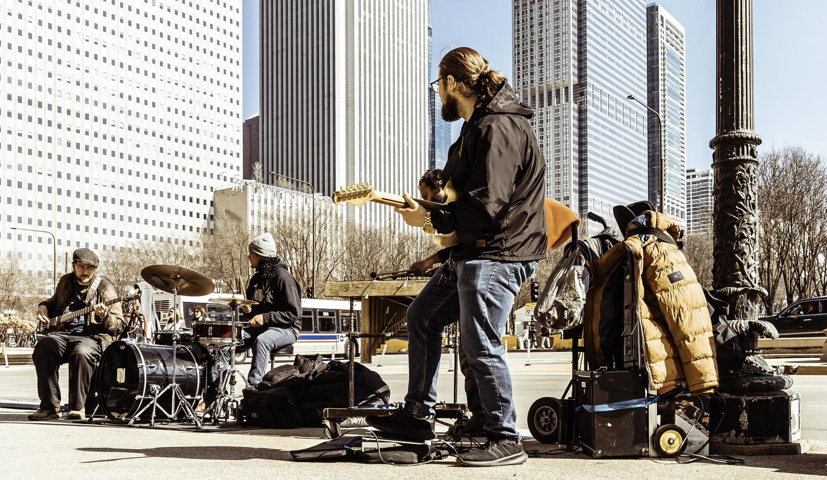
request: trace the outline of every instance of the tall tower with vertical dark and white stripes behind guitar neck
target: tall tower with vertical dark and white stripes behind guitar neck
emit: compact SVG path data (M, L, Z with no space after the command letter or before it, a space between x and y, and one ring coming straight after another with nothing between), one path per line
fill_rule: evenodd
M414 191L428 167L427 22L428 0L261 2L265 172L327 196ZM401 222L376 204L348 211Z

